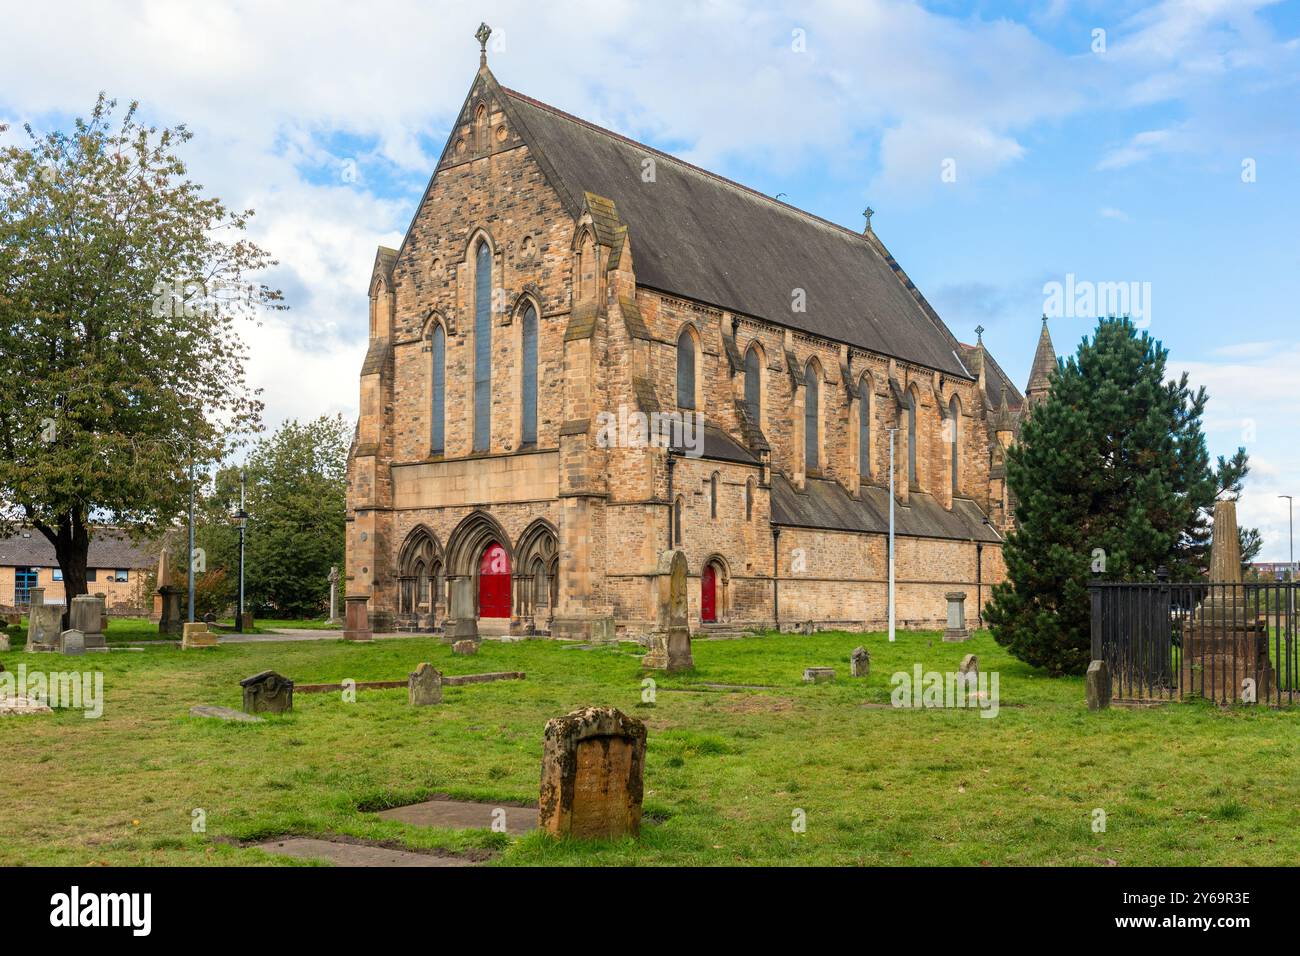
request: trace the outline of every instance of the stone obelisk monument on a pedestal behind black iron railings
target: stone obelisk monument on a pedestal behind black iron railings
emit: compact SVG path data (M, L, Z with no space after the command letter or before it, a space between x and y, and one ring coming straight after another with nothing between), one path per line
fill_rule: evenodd
M1273 682L1269 628L1242 587L1236 502L1218 501L1209 589L1183 630L1183 693L1253 704L1269 698Z

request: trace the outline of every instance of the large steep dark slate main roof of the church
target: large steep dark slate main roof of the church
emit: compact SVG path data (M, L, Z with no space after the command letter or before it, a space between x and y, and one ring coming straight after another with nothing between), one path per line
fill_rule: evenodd
M954 339L878 245L554 107L502 87L543 168L575 209L614 202L637 281L660 291L967 377ZM642 163L655 161L655 181ZM806 312L793 312L793 290Z

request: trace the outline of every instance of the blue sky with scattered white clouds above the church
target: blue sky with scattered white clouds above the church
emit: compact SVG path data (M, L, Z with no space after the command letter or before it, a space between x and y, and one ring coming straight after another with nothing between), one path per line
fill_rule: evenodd
M1284 559L1275 496L1300 496L1297 8L30 4L5 14L25 42L0 61L0 122L66 125L101 88L187 122L195 178L255 207L282 263L291 311L248 329L268 424L355 414L374 247L400 241L486 20L507 86L855 229L870 204L953 332L983 325L1020 382L1046 282L1149 284L1150 333L1212 394L1212 451L1252 455L1242 522ZM1058 352L1089 328L1053 317Z

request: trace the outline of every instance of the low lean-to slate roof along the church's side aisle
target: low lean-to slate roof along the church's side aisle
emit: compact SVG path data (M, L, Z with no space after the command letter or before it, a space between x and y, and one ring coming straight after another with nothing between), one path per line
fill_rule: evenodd
M989 544L1002 540L968 498L954 498L952 511L919 492L911 492L907 501L906 506L894 502L896 535ZM807 493L801 494L784 476L772 475L772 524L887 535L889 492L868 485L862 489L859 501L838 481L809 479Z

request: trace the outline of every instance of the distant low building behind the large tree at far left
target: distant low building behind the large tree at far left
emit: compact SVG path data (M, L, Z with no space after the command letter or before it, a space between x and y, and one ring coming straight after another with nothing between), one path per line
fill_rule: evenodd
M156 563L155 548L134 544L116 528L98 528L91 532L86 589L103 594L109 609L152 607L144 579ZM46 589L46 604L66 604L55 546L35 528L22 528L0 538L0 606L25 607L34 588Z

